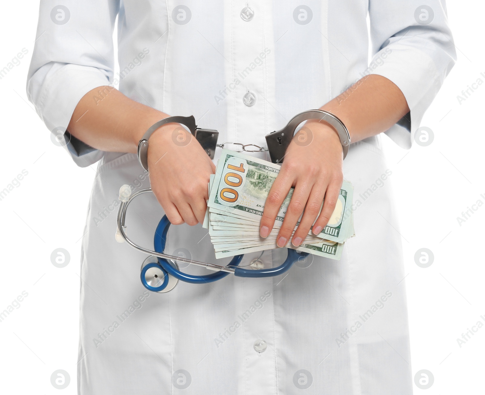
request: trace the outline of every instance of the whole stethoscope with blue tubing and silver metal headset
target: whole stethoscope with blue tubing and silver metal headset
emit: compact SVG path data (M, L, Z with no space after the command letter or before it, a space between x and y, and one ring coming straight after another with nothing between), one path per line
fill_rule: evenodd
M154 251L146 249L134 243L126 235L125 230L127 229L127 226L125 224L125 218L126 210L133 199L148 192L152 192L151 188L141 189L133 194L131 194L129 185L123 185L120 188L120 206L117 217L118 229L116 231L116 241L126 241L134 249L149 255L149 257L143 261L140 273L142 284L149 291L161 293L171 291L178 284L179 280L191 284L207 284L220 280L230 273L238 277L274 277L285 273L291 268L293 263L305 259L308 256L308 253L306 252L299 252L288 248L288 256L278 267L269 269L245 269L239 267L244 255L237 255L232 258L227 266L221 266L216 265L215 263L200 262L198 260L164 254L163 251L165 250L168 228L170 227L170 221L168 221L166 215L162 217L155 229L155 236L153 238ZM206 269L215 271L216 273L210 275L189 275L179 270L177 262L202 266Z

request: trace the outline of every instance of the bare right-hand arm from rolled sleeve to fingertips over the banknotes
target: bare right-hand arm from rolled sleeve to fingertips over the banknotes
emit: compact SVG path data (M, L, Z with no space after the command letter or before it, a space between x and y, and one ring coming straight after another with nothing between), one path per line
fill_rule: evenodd
M342 93L321 109L339 117L354 142L388 130L409 112L401 90L379 75L362 78L354 89ZM294 187L278 232L278 247L290 240L297 221L300 222L291 241L294 246L305 240L312 226L313 233L320 234L332 216L342 187L342 146L335 129L318 120L309 120L305 126L293 137L286 151L261 217L259 233L264 238L274 226L283 199ZM307 143L307 138L311 144Z

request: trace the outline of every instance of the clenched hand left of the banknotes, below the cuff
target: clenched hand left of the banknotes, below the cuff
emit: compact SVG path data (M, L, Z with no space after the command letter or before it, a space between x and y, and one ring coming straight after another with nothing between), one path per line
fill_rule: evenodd
M155 131L148 145L151 189L170 223L204 221L215 166L195 137L177 123Z

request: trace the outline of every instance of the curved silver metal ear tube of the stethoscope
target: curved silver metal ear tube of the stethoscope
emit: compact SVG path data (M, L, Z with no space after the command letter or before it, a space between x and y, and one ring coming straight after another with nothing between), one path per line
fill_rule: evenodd
M234 268L231 268L231 267L216 265L215 263L209 263L209 262L200 262L198 260L185 259L185 258L181 258L181 257L176 257L174 255L161 254L161 253L158 253L156 251L152 251L152 250L140 247L139 245L135 244L133 241L129 240L129 237L125 233L126 210L127 210L132 199L134 199L135 197L137 197L137 196L139 196L143 193L147 193L147 192L151 192L151 191L152 190L150 188L141 189L141 190L133 193L132 195L130 195L129 198L128 198L128 201L120 202L120 207L118 209L118 218L117 218L118 232L131 247L133 247L134 249L136 249L140 252L143 252L145 254L154 255L155 257L158 257L158 258L164 258L164 259L169 259L169 260L173 260L173 261L176 261L176 262L182 262L182 263L187 263L187 264L191 264L191 265L202 266L202 267L205 267L206 269L210 269L210 270L213 270L215 272L222 271L222 272L227 272L227 273L234 273Z

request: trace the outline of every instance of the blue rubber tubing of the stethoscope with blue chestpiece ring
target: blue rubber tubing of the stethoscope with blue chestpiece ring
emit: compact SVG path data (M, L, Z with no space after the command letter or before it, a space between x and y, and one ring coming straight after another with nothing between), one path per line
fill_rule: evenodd
M163 254L163 250L165 249L166 244L166 236L168 232L168 228L170 227L170 221L168 220L167 216L164 215L163 218L158 223L157 229L155 230L155 236L153 239L153 244L155 251ZM260 270L252 270L252 269L244 269L242 267L238 267L239 263L242 260L243 255L237 255L229 262L227 267L234 268L234 275L238 277L273 277L276 275L280 275L288 271L294 262L296 262L299 258L307 257L308 253L299 252L293 249L288 248L288 256L285 261L278 267L269 268L269 269L260 269ZM178 278L181 281L185 281L191 284L206 284L213 281L220 280L221 278L226 277L229 273L228 272L217 272L210 275L189 275L177 270L174 266L170 264L170 262L165 258L157 258L158 263L149 263L147 264L140 274L140 278L142 280L142 284L145 286L146 289L154 292L160 292L168 284L168 275L172 275L175 278ZM158 267L162 269L163 273L165 274L163 283L158 287L150 286L146 281L146 271L150 268ZM167 275L168 274L168 275Z

